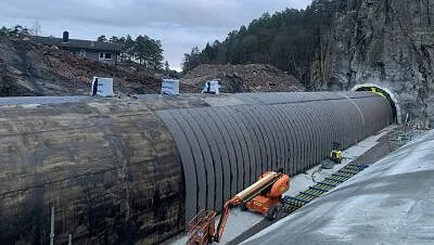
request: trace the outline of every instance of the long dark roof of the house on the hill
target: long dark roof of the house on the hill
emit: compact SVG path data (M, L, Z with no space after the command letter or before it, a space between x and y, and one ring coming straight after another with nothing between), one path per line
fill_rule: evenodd
M90 41L90 40L79 40L79 39L68 39L68 42L63 42L62 38L40 37L40 36L33 36L31 39L35 42L44 46L58 46L60 48L75 48L75 49L112 51L112 52L120 52L122 50L122 46L119 43L113 43L113 42Z

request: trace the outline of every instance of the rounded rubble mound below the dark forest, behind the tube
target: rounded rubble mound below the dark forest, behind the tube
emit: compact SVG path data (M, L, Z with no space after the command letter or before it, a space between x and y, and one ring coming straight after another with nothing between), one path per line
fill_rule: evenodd
M181 89L200 92L206 80L220 81L221 91L228 93L304 91L304 87L295 77L263 64L199 65L182 78Z

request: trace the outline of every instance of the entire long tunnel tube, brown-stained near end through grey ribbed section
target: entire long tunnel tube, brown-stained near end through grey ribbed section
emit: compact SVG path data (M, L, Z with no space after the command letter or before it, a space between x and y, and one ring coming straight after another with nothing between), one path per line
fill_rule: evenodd
M371 92L31 99L0 106L0 241L159 243L264 171L294 176L393 121ZM54 102L53 102L54 101Z

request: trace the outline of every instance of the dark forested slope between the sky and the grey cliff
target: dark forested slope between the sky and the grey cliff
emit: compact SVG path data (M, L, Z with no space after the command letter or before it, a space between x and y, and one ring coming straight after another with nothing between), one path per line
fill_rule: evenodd
M193 48L184 54L184 72L200 64L265 63L294 75L308 87L310 74L321 75L321 40L336 12L346 9L344 0L314 0L306 10L286 9L263 14L248 26L228 34L224 41ZM312 69L314 64L314 69Z

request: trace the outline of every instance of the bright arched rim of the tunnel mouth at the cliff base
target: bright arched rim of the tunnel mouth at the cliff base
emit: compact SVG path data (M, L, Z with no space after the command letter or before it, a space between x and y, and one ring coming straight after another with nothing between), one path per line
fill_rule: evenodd
M391 90L383 88L381 86L374 85L374 83L365 83L365 85L357 85L355 86L352 91L369 91L369 92L374 92L378 93L391 103L392 105L392 113L393 113L393 122L395 124L401 124L403 118L401 118L401 112L400 107L398 104L398 101L396 100L396 96L394 93L392 93Z

